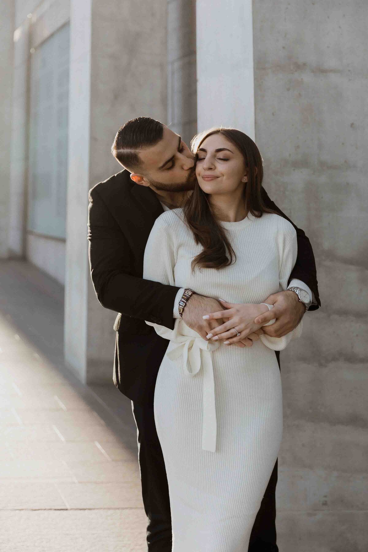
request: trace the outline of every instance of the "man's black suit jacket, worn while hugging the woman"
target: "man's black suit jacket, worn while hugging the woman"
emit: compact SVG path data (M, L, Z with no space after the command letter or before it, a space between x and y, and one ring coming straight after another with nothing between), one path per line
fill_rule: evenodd
M263 189L265 204L287 219ZM113 381L129 399L153 405L159 365L168 346L145 320L174 327L173 307L179 288L144 280L143 255L154 221L163 213L150 188L121 171L89 192L88 240L92 282L99 302L121 313L117 320ZM290 221L290 219L287 219ZM291 221L290 221L291 222ZM292 222L291 222L292 224ZM297 232L298 256L290 279L305 282L318 309L316 264L310 241Z

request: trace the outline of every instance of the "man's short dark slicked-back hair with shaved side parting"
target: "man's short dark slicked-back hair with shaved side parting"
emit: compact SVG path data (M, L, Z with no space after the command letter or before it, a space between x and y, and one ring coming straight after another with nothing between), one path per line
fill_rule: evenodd
M136 117L127 121L116 132L111 153L123 167L135 172L142 166L137 150L154 146L162 140L163 124L151 117Z

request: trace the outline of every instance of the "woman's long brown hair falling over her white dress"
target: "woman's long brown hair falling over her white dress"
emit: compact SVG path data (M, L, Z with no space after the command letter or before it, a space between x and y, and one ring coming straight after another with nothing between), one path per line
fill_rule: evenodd
M242 153L248 169L248 182L244 184L244 201L247 213L259 218L263 213L274 213L268 209L261 195L263 181L263 162L258 147L244 132L237 129L212 128L194 136L191 150L198 159L198 149L202 142L212 134L222 134ZM225 230L218 224L208 200L208 195L195 183L193 194L184 205L186 225L194 234L195 242L203 250L191 262L192 270L199 268L223 268L236 260Z

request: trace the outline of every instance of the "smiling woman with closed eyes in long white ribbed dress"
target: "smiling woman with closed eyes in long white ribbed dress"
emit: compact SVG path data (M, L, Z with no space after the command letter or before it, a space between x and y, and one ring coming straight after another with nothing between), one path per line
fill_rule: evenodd
M247 135L211 129L192 147L198 183L184 210L156 220L143 278L251 303L254 316L262 314L269 308L262 301L287 288L297 255L294 227L265 209L262 157ZM151 325L170 340L157 376L154 420L167 470L173 552L248 550L281 442L274 350L298 337L301 324L243 348L205 341L182 319L174 330Z

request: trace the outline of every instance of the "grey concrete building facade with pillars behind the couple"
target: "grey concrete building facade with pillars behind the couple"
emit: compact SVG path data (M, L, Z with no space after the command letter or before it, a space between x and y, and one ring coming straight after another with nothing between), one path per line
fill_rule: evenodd
M257 142L271 198L312 242L322 309L282 354L281 550L366 548L368 6L281 0L4 0L0 255L65 286L65 358L111 380L115 314L88 269L88 189L137 115L186 142Z

